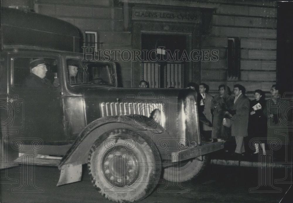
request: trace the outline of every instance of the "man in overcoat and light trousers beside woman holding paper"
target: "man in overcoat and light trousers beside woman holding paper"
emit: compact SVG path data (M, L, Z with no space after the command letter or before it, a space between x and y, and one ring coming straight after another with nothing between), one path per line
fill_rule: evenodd
M249 99L244 95L245 88L242 85L234 85L234 105L230 112L232 116L231 135L235 136L235 153L245 152L244 137L248 135Z

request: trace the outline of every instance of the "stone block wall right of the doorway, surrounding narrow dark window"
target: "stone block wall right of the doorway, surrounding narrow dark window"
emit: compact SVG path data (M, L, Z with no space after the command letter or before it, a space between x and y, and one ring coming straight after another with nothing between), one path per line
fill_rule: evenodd
M218 1L219 2L219 1ZM221 1L212 15L208 34L202 36L202 49L218 49L217 62L201 62L201 81L217 93L220 84L242 84L252 98L255 89L270 91L276 81L277 5L276 2ZM227 42L240 39L238 81L227 81ZM250 94L249 94L250 93Z

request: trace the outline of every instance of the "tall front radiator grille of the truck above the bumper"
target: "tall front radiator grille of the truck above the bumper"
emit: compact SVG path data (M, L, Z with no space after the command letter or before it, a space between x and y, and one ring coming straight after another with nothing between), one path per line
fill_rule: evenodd
M197 105L195 97L189 95L185 98L185 116L186 116L186 139L195 140L200 144L200 131L198 121Z

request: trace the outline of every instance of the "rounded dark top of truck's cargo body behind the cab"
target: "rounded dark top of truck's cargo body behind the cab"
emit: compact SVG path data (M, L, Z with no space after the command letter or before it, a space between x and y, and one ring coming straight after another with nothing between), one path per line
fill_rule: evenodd
M77 27L69 22L1 7L1 48L5 45L23 45L79 52L80 36Z

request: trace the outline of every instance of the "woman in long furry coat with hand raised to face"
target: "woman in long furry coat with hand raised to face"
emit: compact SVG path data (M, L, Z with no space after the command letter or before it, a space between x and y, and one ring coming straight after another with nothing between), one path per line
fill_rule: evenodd
M221 141L227 140L231 129L223 126L224 117L229 118L228 110L233 106L234 98L228 86L220 85L219 94L214 96L211 102L211 112L213 114L212 138Z

